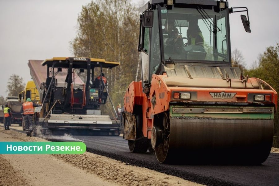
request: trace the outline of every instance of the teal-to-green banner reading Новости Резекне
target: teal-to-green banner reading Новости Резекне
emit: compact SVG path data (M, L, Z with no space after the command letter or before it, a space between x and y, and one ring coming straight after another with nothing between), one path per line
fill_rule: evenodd
M82 154L83 142L0 142L0 154Z

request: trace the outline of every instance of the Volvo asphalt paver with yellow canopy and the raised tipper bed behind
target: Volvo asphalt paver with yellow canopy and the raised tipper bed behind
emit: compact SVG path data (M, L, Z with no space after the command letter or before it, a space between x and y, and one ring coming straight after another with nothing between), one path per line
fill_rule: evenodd
M100 110L100 105L106 104L109 97L103 69L116 67L118 62L84 57L54 57L44 61L29 60L28 65L42 103L37 124L43 129L119 134L119 121L102 115Z

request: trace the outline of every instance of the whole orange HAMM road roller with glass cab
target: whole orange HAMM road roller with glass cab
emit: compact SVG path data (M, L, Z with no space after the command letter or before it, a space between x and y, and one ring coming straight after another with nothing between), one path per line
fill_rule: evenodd
M264 162L277 92L232 67L227 1L149 1L140 9L141 81L124 97L124 139L161 163ZM151 147L152 148L151 148Z

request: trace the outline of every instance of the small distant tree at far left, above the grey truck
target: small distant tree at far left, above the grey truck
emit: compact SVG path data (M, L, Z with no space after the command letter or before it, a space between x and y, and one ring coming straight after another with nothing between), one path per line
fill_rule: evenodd
M7 90L9 96L18 96L23 91L25 84L23 78L19 75L12 74L8 80Z

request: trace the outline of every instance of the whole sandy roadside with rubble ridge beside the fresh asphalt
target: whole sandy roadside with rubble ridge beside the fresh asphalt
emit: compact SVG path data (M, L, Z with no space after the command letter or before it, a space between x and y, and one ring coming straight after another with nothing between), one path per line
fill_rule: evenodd
M0 127L0 141L46 140ZM0 185L200 185L88 152L0 155L0 175Z

